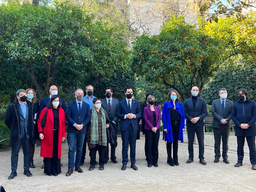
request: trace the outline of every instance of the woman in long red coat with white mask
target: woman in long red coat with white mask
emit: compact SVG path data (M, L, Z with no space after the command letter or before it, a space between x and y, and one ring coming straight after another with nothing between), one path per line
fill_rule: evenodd
M42 129L41 122L47 111L45 127ZM37 121L38 133L41 139L41 153L44 157L44 173L49 176L57 176L61 173L61 141L65 140L65 113L61 108L58 95L52 95L50 101L44 108Z

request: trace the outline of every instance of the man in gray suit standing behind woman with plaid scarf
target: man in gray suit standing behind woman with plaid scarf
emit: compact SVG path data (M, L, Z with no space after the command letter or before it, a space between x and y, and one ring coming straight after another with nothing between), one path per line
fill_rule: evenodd
M105 88L105 95L106 98L102 99L102 108L107 112L109 120L113 121L116 125L118 126L118 118L116 118L116 107L118 105L118 100L113 98L113 89L111 87L106 87ZM117 135L117 133L116 133ZM116 156L115 156L115 147L111 146L111 156L110 159L113 163L117 163L116 161ZM105 150L105 164L109 160L109 144L106 147Z

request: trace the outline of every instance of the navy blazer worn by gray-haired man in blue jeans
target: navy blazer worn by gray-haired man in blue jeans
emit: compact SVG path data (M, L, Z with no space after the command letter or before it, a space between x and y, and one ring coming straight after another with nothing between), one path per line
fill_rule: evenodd
M87 124L91 120L91 110L90 105L86 102L82 102L82 107L80 114L78 114L77 102L76 100L69 102L67 110L65 112L66 120L68 121L68 133L76 132L77 129L74 127L74 123L81 125L83 124L83 128L80 130L81 133L87 132Z

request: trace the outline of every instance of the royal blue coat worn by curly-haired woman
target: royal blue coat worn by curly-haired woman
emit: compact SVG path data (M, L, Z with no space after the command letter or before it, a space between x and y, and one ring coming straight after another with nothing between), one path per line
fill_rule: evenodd
M181 103L175 101L176 111L180 114L179 124L179 141L183 143L183 129L185 127L185 113ZM162 119L163 119L163 140L173 142L173 132L170 117L170 108L174 108L173 102L166 101L163 106ZM164 131L167 129L167 133Z

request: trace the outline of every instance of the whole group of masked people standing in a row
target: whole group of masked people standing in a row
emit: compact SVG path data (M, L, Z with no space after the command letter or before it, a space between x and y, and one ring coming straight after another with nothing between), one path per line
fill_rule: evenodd
M141 105L134 99L133 88L126 87L125 99L118 101L113 98L113 89L106 87L105 98L93 96L93 86L86 86L86 95L82 89L74 93L74 101L67 107L62 98L58 96L58 88L50 87L50 95L41 100L40 105L36 100L33 89L19 89L17 99L8 104L5 114L5 124L10 129L10 143L12 146L11 166L12 172L8 179L17 176L18 153L23 145L24 175L32 176L29 167L34 168L33 156L35 143L41 139L40 156L44 157L44 173L57 176L61 173L61 142L65 140L65 119L68 123L68 171L70 176L73 170L83 173L81 166L86 157L86 145L90 156L89 170L94 170L99 164L99 170L104 169L104 164L109 160L109 143L111 145L110 160L118 163L115 156L117 146L118 119L120 119L120 132L122 137L122 167L126 170L128 163L128 148L130 147L131 168L138 170L135 165L136 140L139 138L139 122L142 120L142 132L145 134L145 156L147 166L158 167L158 142L160 136L161 111L156 99L151 92L146 95L145 102ZM178 166L178 141L183 142L183 129L187 119L188 152L186 163L194 161L194 136L197 135L199 144L199 162L206 165L204 160L204 118L207 116L206 102L198 97L198 87L191 89L191 97L182 105L179 93L175 90L167 94L166 102L162 109L163 140L166 141L167 163ZM237 136L238 162L235 167L242 166L243 147L245 137L250 150L252 169L256 169L256 104L248 98L246 89L239 89L238 100L233 104L227 98L227 90L219 90L219 99L212 102L212 115L215 139L215 160L219 162L220 141L222 139L222 157L228 161L228 138L231 119L235 123ZM96 153L99 153L99 162ZM172 153L173 151L173 153ZM76 155L75 155L76 153Z

